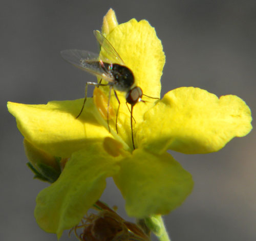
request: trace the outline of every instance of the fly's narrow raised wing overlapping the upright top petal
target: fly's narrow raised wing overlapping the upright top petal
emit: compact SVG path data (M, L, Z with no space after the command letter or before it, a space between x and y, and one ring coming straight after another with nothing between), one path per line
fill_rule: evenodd
M102 49L104 49L106 54L108 54L111 57L110 59L115 60L115 63L125 65L120 55L116 52L110 41L106 39L98 30L94 30L93 33Z

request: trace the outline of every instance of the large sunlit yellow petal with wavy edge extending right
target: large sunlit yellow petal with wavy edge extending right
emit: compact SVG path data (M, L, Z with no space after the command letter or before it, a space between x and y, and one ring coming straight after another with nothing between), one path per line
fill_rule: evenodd
M216 152L233 137L248 134L251 119L249 107L236 95L219 99L203 89L182 87L166 93L145 113L136 143L154 153Z

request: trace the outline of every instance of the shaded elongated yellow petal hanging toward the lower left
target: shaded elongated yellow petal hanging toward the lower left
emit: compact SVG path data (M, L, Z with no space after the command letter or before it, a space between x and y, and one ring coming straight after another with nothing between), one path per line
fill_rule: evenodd
M100 145L74 153L59 179L39 192L35 218L47 232L57 233L77 225L88 209L100 198L105 178L118 171L115 158Z

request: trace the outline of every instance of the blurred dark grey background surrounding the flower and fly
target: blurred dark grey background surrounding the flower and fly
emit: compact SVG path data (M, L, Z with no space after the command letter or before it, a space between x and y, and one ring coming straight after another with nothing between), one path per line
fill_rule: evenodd
M35 198L48 184L33 180L23 137L6 102L45 104L83 98L85 83L93 77L67 64L59 52L97 52L93 30L101 28L110 7L120 23L134 17L155 27L166 55L162 95L181 86L200 87L218 96L238 95L255 114L254 0L2 1L0 240L57 240L35 222ZM173 241L256 240L255 146L252 130L218 153L170 152L195 181L182 206L165 216ZM111 179L101 200L117 205L125 218L124 202ZM75 240L67 233L61 241Z

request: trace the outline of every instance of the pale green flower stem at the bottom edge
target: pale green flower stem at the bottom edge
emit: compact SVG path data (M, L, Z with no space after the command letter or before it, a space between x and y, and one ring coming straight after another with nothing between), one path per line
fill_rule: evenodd
M159 241L171 241L161 215L146 218L145 224L158 237Z

